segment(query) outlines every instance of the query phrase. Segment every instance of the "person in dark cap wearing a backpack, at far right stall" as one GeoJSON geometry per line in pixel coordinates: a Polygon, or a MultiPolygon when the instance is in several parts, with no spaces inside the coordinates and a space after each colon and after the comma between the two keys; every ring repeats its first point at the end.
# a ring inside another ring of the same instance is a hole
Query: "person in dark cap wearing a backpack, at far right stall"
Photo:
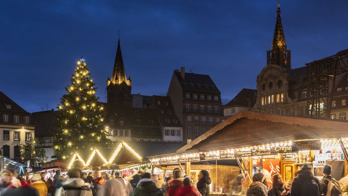
{"type": "Polygon", "coordinates": [[[340,183],[336,181],[336,179],[332,178],[332,167],[330,165],[324,165],[323,174],[325,175],[322,180],[319,181],[319,192],[323,196],[328,195],[328,185],[329,183],[333,183],[331,190],[329,190],[330,195],[340,195],[342,196],[342,190],[340,187],[340,183]]]}

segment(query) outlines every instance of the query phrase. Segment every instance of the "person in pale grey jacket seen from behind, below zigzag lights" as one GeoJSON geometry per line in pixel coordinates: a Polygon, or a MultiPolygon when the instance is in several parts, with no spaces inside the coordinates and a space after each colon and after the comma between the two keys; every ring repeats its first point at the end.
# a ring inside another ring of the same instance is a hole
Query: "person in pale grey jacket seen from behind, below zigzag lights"
{"type": "Polygon", "coordinates": [[[56,196],[92,196],[91,189],[80,176],[80,170],[70,169],[68,177],[69,179],[57,190],[56,196]]]}

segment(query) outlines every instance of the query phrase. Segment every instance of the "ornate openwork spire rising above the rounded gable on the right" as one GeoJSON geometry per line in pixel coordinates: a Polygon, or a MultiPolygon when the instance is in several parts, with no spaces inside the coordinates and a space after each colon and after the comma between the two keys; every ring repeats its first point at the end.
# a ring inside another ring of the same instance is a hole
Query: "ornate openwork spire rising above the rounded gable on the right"
{"type": "Polygon", "coordinates": [[[290,55],[291,51],[286,50],[285,35],[280,17],[280,2],[278,0],[277,19],[273,33],[272,46],[271,50],[267,50],[267,65],[273,64],[284,68],[291,68],[290,55]]]}

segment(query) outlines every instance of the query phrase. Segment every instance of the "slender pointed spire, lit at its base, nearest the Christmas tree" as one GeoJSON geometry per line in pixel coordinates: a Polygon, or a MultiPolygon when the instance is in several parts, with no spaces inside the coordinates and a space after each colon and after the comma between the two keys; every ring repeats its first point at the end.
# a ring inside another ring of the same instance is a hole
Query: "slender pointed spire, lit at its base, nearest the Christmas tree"
{"type": "Polygon", "coordinates": [[[114,63],[112,78],[111,78],[113,83],[116,82],[116,78],[119,80],[120,83],[127,80],[126,72],[124,70],[124,64],[123,64],[123,58],[122,58],[119,39],[118,39],[115,63],[114,63]]]}

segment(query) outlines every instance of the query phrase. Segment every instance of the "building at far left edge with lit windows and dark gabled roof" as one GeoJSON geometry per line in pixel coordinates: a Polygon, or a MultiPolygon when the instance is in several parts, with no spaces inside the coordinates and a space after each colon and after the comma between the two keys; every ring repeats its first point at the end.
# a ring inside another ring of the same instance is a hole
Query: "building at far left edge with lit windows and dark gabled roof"
{"type": "Polygon", "coordinates": [[[20,159],[20,144],[32,143],[35,126],[31,114],[0,92],[0,146],[4,157],[20,159]]]}

